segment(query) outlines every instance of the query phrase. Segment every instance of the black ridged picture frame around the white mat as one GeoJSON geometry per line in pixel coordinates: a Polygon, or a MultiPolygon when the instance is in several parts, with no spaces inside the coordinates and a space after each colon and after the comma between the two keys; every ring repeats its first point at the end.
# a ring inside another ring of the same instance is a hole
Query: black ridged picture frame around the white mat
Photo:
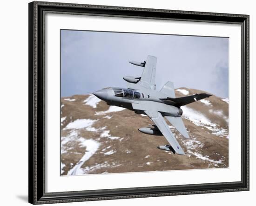
{"type": "Polygon", "coordinates": [[[249,15],[34,1],[29,3],[29,202],[110,200],[249,190],[249,15]],[[181,186],[45,192],[45,13],[239,24],[242,31],[241,181],[181,186]]]}

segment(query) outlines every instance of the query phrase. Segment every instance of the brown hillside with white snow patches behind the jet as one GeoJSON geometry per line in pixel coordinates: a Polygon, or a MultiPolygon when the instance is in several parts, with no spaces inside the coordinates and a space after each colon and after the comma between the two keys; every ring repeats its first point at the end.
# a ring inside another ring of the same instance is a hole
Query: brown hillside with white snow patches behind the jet
{"type": "MultiPolygon", "coordinates": [[[[176,97],[207,93],[179,88],[176,97]]],[[[163,136],[138,131],[144,115],[108,106],[93,95],[61,98],[61,175],[229,167],[229,104],[211,96],[182,107],[185,139],[170,124],[186,155],[160,150],[163,136]]]]}

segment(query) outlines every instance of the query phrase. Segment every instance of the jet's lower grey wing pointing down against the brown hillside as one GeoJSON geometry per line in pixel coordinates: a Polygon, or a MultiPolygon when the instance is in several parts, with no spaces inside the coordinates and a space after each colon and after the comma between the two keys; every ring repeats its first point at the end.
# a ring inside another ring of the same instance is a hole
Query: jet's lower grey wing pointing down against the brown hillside
{"type": "Polygon", "coordinates": [[[166,138],[172,148],[175,150],[175,153],[178,155],[185,155],[182,147],[179,145],[179,142],[176,140],[175,136],[169,129],[168,124],[165,122],[163,116],[158,111],[145,110],[144,111],[149,118],[155,123],[157,128],[162,132],[162,135],[166,138]]]}

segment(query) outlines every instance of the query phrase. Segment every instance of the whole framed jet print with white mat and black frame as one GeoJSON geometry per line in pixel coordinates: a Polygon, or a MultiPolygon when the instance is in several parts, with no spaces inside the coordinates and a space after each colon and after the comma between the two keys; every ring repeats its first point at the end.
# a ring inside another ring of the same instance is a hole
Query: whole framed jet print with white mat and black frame
{"type": "Polygon", "coordinates": [[[29,3],[30,203],[245,190],[249,15],[29,3]]]}

